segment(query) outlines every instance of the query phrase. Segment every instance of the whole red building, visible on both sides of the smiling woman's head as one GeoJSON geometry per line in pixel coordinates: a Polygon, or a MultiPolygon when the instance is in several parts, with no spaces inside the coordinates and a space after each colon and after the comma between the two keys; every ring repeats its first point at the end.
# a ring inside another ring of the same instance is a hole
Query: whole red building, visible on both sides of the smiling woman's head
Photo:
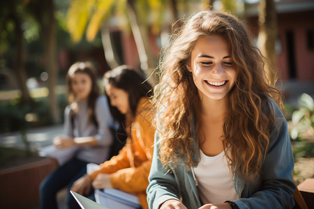
{"type": "MultiPolygon", "coordinates": [[[[284,82],[314,81],[314,0],[274,0],[276,2],[278,40],[276,42],[277,67],[284,82]]],[[[257,37],[257,3],[251,3],[246,10],[246,22],[257,37]]],[[[140,61],[133,36],[112,30],[118,45],[122,63],[139,68],[140,61]]],[[[149,38],[151,52],[158,57],[158,39],[149,38]]]]}

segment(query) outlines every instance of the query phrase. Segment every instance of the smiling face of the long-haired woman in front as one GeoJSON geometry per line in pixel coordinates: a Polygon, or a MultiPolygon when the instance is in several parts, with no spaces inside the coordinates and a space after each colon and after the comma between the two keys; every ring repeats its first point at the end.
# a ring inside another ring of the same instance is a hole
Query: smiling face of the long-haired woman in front
{"type": "Polygon", "coordinates": [[[237,78],[229,47],[222,36],[210,35],[197,40],[186,67],[193,74],[201,98],[225,98],[237,78]]]}

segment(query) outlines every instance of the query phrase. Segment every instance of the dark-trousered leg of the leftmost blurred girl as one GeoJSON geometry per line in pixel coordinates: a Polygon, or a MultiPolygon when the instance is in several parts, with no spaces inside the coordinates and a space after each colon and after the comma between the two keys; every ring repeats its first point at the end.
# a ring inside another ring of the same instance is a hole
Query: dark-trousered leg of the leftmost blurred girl
{"type": "Polygon", "coordinates": [[[57,192],[66,187],[73,176],[82,169],[80,161],[75,158],[57,168],[40,183],[40,208],[58,208],[57,192]]]}

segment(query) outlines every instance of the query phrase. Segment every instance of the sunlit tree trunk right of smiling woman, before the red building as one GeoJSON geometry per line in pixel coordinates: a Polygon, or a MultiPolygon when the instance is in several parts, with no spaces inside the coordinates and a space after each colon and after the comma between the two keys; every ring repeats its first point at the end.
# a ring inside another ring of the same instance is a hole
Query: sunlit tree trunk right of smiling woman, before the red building
{"type": "Polygon", "coordinates": [[[265,65],[266,78],[271,86],[276,84],[276,51],[277,38],[276,6],[274,0],[260,0],[259,17],[260,32],[257,45],[262,54],[268,59],[265,65]]]}

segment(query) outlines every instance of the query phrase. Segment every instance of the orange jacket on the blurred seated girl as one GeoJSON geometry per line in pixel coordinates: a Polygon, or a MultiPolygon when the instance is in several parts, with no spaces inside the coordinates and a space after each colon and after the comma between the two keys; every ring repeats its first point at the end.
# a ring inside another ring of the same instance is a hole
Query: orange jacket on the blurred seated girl
{"type": "Polygon", "coordinates": [[[130,137],[117,156],[112,157],[100,169],[91,173],[95,179],[98,173],[111,173],[112,187],[137,195],[142,208],[148,208],[146,188],[153,156],[155,128],[151,125],[154,112],[147,98],[140,99],[135,120],[130,127],[130,137]]]}

